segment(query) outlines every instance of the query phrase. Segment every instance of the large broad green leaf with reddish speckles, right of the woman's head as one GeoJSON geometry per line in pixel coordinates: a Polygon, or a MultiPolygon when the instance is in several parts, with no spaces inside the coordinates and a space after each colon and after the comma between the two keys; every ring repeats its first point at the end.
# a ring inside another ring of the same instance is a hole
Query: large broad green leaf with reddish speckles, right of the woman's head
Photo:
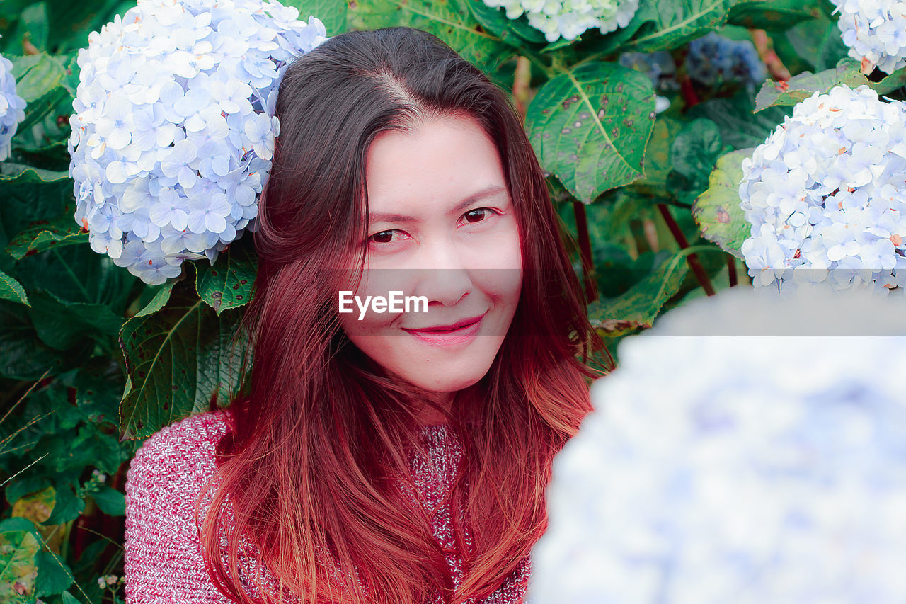
{"type": "Polygon", "coordinates": [[[583,63],[541,87],[528,106],[525,130],[545,170],[589,203],[643,176],[654,98],[642,73],[583,63]]]}

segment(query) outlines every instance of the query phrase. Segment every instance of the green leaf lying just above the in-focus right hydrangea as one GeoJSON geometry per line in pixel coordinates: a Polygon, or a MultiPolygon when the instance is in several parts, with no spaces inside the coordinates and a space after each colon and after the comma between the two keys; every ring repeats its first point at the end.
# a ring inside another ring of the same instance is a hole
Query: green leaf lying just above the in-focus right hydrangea
{"type": "Polygon", "coordinates": [[[906,68],[891,73],[880,82],[872,82],[860,71],[860,63],[851,58],[841,59],[833,69],[819,73],[800,73],[786,83],[767,81],[756,96],[755,111],[759,112],[774,105],[795,105],[815,92],[827,93],[841,84],[858,88],[866,84],[878,94],[891,93],[906,85],[906,68]]]}

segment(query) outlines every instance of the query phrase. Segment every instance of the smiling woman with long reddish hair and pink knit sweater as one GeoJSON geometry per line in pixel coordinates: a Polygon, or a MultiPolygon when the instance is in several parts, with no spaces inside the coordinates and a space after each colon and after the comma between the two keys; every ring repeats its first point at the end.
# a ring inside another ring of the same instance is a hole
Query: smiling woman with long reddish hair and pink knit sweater
{"type": "Polygon", "coordinates": [[[392,27],[297,59],[276,114],[251,390],[133,460],[127,601],[523,601],[602,343],[516,112],[392,27]],[[393,291],[423,306],[362,304],[393,291]]]}

